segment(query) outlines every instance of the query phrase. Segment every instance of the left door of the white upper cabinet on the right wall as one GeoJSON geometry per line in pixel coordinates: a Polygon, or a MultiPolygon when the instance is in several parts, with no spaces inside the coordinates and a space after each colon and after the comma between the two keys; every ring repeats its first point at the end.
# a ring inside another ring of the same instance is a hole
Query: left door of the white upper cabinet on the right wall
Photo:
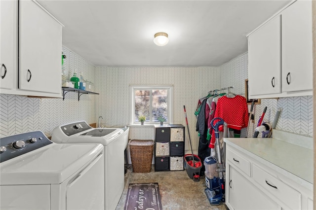
{"type": "Polygon", "coordinates": [[[281,18],[248,36],[249,95],[281,93],[281,18]]]}

